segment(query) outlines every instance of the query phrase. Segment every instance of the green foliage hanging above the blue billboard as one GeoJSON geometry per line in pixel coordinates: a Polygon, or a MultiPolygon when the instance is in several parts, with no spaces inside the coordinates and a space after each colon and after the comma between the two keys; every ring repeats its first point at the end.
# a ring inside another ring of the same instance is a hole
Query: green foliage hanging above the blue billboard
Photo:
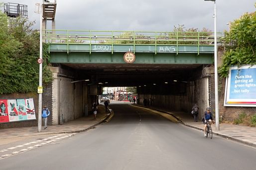
{"type": "Polygon", "coordinates": [[[224,42],[226,52],[219,73],[227,77],[230,66],[256,64],[256,12],[245,13],[230,25],[224,42]]]}

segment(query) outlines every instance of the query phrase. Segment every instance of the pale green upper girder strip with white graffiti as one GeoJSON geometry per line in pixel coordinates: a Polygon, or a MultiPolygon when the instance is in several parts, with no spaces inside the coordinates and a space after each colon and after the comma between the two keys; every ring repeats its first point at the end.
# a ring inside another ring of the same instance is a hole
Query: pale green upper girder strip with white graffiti
{"type": "Polygon", "coordinates": [[[49,52],[128,52],[133,53],[211,53],[214,46],[209,45],[150,45],[150,44],[49,44],[49,52]]]}

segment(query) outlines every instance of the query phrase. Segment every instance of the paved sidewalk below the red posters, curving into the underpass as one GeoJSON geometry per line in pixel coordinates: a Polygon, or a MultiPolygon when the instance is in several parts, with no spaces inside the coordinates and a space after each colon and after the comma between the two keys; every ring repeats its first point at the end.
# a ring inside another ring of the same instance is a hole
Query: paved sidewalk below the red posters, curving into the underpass
{"type": "Polygon", "coordinates": [[[94,115],[89,115],[64,123],[63,125],[48,126],[47,129],[44,129],[42,126],[41,132],[37,132],[37,126],[0,129],[0,140],[57,133],[83,132],[102,122],[108,121],[114,115],[113,112],[112,114],[105,113],[105,107],[103,105],[99,105],[98,110],[96,119],[94,119],[94,115]]]}

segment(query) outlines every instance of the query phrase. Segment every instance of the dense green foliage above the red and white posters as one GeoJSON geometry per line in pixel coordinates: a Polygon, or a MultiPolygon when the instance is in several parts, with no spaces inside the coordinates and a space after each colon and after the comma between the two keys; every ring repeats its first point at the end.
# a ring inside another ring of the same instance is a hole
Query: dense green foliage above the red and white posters
{"type": "MultiPolygon", "coordinates": [[[[0,94],[33,92],[39,80],[39,33],[31,29],[33,22],[25,17],[9,19],[0,12],[0,94]]],[[[46,53],[45,60],[49,59],[46,53]]],[[[44,83],[51,73],[44,64],[44,83]]]]}

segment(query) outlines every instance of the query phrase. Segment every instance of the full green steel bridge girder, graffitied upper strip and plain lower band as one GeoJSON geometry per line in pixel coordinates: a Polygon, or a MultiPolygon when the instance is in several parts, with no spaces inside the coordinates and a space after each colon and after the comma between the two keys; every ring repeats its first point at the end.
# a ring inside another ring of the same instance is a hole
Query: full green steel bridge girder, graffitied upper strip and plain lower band
{"type": "Polygon", "coordinates": [[[197,45],[99,45],[49,44],[51,63],[126,64],[127,51],[136,55],[134,64],[212,64],[213,46],[197,45]]]}

